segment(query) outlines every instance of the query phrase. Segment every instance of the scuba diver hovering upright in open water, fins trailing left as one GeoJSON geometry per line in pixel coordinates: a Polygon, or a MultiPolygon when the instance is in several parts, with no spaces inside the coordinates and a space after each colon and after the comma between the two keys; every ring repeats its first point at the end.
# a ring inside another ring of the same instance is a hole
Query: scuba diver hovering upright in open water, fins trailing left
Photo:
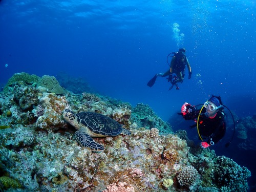
{"type": "Polygon", "coordinates": [[[150,81],[148,81],[147,86],[152,87],[157,77],[166,77],[168,75],[167,80],[173,85],[172,87],[169,88],[169,90],[172,89],[174,86],[176,86],[176,89],[179,90],[177,82],[181,82],[181,83],[183,82],[186,66],[188,69],[188,79],[190,79],[192,75],[191,67],[185,52],[186,52],[185,48],[180,48],[178,52],[170,53],[167,56],[167,63],[170,67],[169,70],[166,71],[165,73],[156,74],[150,81]],[[170,64],[168,61],[169,57],[172,57],[170,64]],[[173,73],[175,73],[176,75],[173,76],[173,73]]]}

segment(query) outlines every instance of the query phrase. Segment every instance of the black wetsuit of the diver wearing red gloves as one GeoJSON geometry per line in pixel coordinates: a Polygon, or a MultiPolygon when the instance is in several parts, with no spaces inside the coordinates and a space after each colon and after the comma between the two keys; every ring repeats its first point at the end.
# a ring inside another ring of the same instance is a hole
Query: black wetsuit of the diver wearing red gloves
{"type": "MultiPolygon", "coordinates": [[[[187,113],[186,115],[182,115],[185,120],[195,119],[197,122],[198,115],[201,109],[193,109],[192,113],[187,113]]],[[[206,109],[203,108],[201,114],[204,114],[206,109]]],[[[205,116],[200,116],[199,118],[199,133],[202,139],[206,140],[208,144],[210,141],[214,143],[218,143],[226,133],[226,122],[225,122],[225,114],[222,111],[218,111],[214,118],[209,118],[205,116]]]]}

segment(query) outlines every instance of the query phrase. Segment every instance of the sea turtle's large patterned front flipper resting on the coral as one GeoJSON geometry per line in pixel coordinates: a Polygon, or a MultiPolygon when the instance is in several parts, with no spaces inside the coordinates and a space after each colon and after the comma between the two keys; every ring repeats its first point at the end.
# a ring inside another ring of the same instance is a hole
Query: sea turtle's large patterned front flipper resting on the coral
{"type": "Polygon", "coordinates": [[[76,137],[76,140],[79,142],[79,144],[82,147],[88,147],[88,148],[90,148],[90,150],[95,151],[95,152],[103,151],[105,149],[103,145],[96,143],[91,138],[91,136],[86,132],[78,130],[75,132],[75,137],[76,137]]]}

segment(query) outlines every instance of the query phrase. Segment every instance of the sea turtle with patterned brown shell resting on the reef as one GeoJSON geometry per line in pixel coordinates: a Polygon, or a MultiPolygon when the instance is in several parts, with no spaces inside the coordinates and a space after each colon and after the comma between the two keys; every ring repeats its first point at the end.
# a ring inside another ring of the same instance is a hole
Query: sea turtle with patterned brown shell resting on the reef
{"type": "Polygon", "coordinates": [[[123,129],[117,121],[99,113],[80,112],[74,114],[71,110],[64,110],[62,116],[78,130],[75,132],[75,137],[80,145],[88,147],[92,151],[104,150],[104,146],[96,143],[92,137],[131,135],[131,132],[123,129]]]}

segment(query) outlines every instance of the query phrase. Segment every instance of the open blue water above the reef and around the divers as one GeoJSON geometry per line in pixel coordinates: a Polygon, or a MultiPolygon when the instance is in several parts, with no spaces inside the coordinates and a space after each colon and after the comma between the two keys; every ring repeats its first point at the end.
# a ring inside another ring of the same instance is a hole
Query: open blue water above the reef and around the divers
{"type": "Polygon", "coordinates": [[[17,72],[67,72],[101,94],[150,104],[163,120],[185,101],[203,103],[211,94],[239,117],[251,116],[255,10],[255,1],[2,0],[0,85],[17,72]],[[186,71],[180,90],[168,91],[161,77],[147,87],[179,47],[186,48],[193,77],[186,71]]]}

